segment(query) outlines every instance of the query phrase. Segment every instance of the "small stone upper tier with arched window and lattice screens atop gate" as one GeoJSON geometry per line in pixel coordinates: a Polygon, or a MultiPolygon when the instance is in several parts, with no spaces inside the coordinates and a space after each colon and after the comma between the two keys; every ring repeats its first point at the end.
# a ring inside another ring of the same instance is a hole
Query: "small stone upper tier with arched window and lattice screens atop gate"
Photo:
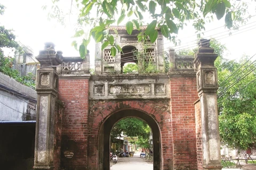
{"type": "MultiPolygon", "coordinates": [[[[145,30],[146,27],[142,27],[143,29],[145,30]]],[[[125,63],[135,63],[138,66],[140,63],[151,63],[159,72],[162,72],[164,70],[164,47],[161,31],[158,30],[158,36],[154,43],[150,43],[149,40],[144,43],[139,42],[137,37],[140,32],[141,30],[133,30],[129,35],[125,26],[111,27],[109,35],[114,37],[115,44],[122,48],[122,52],[111,56],[111,46],[101,50],[102,43],[97,43],[95,46],[95,73],[123,73],[125,63]],[[140,61],[142,56],[143,60],[140,61]]],[[[139,73],[141,73],[140,70],[139,73]]]]}

